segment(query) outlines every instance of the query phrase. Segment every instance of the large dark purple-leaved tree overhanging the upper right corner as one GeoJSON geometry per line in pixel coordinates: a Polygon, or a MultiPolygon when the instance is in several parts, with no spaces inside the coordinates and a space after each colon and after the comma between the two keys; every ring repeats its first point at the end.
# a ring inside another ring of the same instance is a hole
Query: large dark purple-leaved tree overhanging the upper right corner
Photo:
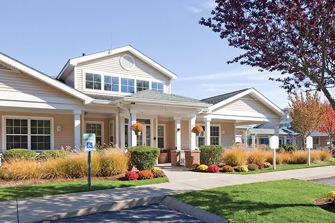
{"type": "MultiPolygon", "coordinates": [[[[216,0],[213,17],[199,23],[212,28],[229,46],[245,53],[240,62],[260,70],[280,71],[282,88],[316,89],[333,109],[335,87],[335,1],[216,0]]],[[[272,80],[274,80],[272,78],[272,80]]]]}

